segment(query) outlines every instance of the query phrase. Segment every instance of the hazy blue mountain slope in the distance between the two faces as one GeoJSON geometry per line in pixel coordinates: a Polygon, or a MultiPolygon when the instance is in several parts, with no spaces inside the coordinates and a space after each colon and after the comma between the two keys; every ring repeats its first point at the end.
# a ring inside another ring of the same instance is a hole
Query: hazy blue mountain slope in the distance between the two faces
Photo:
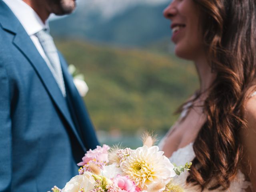
{"type": "Polygon", "coordinates": [[[50,22],[51,33],[58,38],[86,39],[119,46],[144,46],[170,36],[170,21],[160,5],[139,4],[106,20],[98,12],[79,9],[71,16],[50,22]]]}

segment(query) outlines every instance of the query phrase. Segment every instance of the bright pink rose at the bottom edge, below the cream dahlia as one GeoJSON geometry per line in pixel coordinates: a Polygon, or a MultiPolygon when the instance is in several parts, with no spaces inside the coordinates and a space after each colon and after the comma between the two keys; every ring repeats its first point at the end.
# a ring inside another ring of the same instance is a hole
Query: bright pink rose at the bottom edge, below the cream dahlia
{"type": "Polygon", "coordinates": [[[136,185],[131,181],[128,176],[117,175],[114,180],[114,184],[121,188],[120,192],[139,192],[136,185]]]}

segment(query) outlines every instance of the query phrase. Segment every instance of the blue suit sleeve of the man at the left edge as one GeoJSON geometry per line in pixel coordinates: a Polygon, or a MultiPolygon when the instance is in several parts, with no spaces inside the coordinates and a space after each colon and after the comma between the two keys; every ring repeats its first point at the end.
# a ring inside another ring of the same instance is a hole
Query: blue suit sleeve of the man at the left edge
{"type": "Polygon", "coordinates": [[[0,63],[0,192],[10,192],[12,180],[12,123],[8,75],[0,63]]]}

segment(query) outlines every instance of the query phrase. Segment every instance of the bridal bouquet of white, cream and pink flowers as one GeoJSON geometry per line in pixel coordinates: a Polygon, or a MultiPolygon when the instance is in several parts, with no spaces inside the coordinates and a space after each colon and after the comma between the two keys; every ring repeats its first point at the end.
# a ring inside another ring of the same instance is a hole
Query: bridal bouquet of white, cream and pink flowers
{"type": "Polygon", "coordinates": [[[185,192],[172,178],[191,163],[174,166],[153,146],[154,139],[147,135],[143,146],[135,150],[108,145],[97,146],[82,158],[78,175],[60,190],[54,186],[52,192],[185,192]]]}

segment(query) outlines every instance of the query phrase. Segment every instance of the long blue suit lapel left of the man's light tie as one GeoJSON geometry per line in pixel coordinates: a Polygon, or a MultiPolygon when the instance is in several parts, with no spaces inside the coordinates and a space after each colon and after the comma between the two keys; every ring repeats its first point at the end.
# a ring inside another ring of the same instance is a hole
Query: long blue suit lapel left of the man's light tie
{"type": "Polygon", "coordinates": [[[68,122],[70,128],[74,132],[74,135],[78,139],[78,142],[81,144],[82,148],[86,150],[84,144],[72,122],[72,118],[70,116],[70,112],[68,110],[68,106],[66,104],[66,100],[63,97],[60,88],[56,80],[54,79],[52,72],[48,68],[42,56],[39,54],[38,50],[34,46],[34,43],[18,21],[18,19],[14,16],[11,10],[0,1],[0,23],[3,28],[9,32],[14,33],[13,44],[24,54],[27,60],[30,62],[39,78],[42,81],[45,89],[47,90],[50,98],[56,104],[56,107],[60,111],[60,113],[64,116],[66,121],[68,122]]]}

